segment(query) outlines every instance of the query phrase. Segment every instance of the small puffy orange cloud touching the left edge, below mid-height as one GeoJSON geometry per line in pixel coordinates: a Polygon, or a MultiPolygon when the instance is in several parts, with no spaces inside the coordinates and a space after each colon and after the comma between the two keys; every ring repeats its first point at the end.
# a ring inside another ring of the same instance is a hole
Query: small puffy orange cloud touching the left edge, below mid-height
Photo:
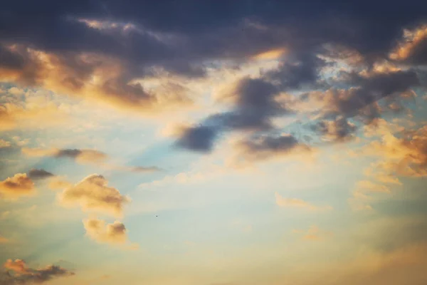
{"type": "Polygon", "coordinates": [[[2,197],[16,199],[21,196],[33,195],[34,182],[25,173],[17,173],[0,182],[0,194],[2,197]]]}

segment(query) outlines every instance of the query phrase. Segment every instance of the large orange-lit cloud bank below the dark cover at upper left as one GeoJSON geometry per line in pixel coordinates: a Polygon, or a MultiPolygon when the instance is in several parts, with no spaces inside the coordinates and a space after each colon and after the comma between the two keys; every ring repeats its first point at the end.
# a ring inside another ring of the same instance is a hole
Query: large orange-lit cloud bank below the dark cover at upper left
{"type": "Polygon", "coordinates": [[[0,77],[4,81],[39,86],[138,113],[170,110],[191,103],[183,86],[163,93],[164,86],[146,88],[136,83],[138,78],[131,78],[125,64],[116,58],[94,53],[59,55],[17,44],[4,48],[25,63],[19,68],[1,66],[0,77]]]}

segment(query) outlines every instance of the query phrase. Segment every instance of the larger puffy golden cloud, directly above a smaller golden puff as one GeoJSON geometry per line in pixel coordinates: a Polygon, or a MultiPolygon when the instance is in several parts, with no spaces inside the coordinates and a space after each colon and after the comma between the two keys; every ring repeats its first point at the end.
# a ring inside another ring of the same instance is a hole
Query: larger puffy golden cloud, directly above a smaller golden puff
{"type": "Polygon", "coordinates": [[[68,207],[80,206],[85,212],[121,217],[123,207],[130,199],[107,185],[108,182],[102,175],[89,175],[77,184],[65,188],[59,195],[60,203],[68,207]]]}

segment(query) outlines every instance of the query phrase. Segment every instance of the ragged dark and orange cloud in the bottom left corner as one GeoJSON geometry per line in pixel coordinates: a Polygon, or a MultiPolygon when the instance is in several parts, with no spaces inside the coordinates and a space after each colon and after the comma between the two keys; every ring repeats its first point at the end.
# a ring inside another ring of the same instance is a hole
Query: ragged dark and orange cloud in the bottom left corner
{"type": "Polygon", "coordinates": [[[73,276],[72,271],[63,269],[60,266],[50,265],[46,266],[43,269],[31,269],[28,268],[26,262],[21,259],[8,259],[4,264],[4,268],[7,270],[14,271],[14,275],[9,274],[9,271],[6,274],[3,274],[0,284],[43,284],[45,282],[51,281],[57,277],[66,277],[73,276]]]}

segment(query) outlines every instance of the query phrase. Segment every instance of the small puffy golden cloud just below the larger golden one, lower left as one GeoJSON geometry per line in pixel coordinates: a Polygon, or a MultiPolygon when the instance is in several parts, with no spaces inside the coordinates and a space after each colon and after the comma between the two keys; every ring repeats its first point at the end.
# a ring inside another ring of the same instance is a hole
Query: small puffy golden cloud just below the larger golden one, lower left
{"type": "Polygon", "coordinates": [[[115,221],[112,224],[106,224],[101,219],[84,219],[83,224],[88,237],[96,242],[107,244],[125,244],[127,242],[126,228],[121,222],[115,221]]]}

